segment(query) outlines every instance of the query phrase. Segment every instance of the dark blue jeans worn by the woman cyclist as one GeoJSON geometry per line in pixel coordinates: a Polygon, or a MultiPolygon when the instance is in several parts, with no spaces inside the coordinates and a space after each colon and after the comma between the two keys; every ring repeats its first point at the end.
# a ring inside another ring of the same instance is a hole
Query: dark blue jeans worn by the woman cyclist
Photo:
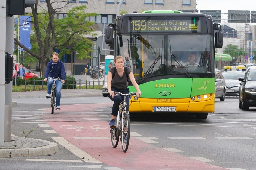
{"type": "MultiPolygon", "coordinates": [[[[123,94],[128,94],[129,93],[129,89],[116,89],[114,87],[111,87],[111,90],[114,91],[114,92],[120,92],[120,93],[123,93],[123,94]]],[[[113,107],[112,107],[112,115],[113,116],[117,116],[118,114],[118,110],[119,110],[119,105],[120,103],[123,101],[123,95],[116,95],[113,97],[110,97],[109,93],[108,93],[108,98],[110,98],[110,100],[114,101],[114,104],[113,104],[113,107]]],[[[129,99],[130,99],[130,96],[126,96],[126,111],[129,110],[129,99]]]]}

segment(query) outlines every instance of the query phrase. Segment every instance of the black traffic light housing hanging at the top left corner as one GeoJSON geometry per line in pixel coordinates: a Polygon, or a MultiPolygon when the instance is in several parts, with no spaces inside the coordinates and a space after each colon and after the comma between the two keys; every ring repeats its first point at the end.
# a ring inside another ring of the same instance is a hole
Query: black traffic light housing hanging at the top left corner
{"type": "Polygon", "coordinates": [[[35,0],[6,0],[6,16],[24,15],[25,8],[35,4],[35,0]]]}

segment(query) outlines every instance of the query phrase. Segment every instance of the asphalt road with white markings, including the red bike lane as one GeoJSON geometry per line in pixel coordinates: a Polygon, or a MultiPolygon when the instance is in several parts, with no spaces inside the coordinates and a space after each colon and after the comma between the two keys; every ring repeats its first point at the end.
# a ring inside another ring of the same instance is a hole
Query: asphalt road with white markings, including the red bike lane
{"type": "Polygon", "coordinates": [[[53,115],[46,101],[17,101],[12,109],[12,133],[23,136],[22,129],[34,129],[30,138],[51,142],[58,139],[60,152],[47,157],[2,158],[1,169],[255,170],[256,167],[256,108],[242,111],[238,98],[215,99],[215,113],[209,114],[206,120],[188,114],[131,114],[133,133],[127,153],[122,152],[121,145],[112,148],[110,139],[103,138],[110,136],[108,129],[91,128],[108,126],[111,106],[108,98],[62,98],[61,110],[53,115]],[[41,128],[39,124],[50,127],[41,128]],[[63,125],[74,128],[66,129],[63,125]],[[47,130],[56,133],[46,133],[47,130]],[[92,136],[102,139],[91,139],[92,136]],[[99,162],[86,162],[87,157],[81,159],[63,139],[99,162]],[[113,154],[117,160],[109,157],[113,154]]]}

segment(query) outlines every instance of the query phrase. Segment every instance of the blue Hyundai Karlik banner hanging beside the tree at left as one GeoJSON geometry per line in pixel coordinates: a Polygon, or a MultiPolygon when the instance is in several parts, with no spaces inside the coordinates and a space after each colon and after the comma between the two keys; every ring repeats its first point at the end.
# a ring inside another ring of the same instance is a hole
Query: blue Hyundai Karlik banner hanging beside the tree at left
{"type": "MultiPolygon", "coordinates": [[[[31,50],[30,44],[31,16],[20,16],[20,43],[31,50]]],[[[24,51],[20,48],[20,51],[24,51]]]]}

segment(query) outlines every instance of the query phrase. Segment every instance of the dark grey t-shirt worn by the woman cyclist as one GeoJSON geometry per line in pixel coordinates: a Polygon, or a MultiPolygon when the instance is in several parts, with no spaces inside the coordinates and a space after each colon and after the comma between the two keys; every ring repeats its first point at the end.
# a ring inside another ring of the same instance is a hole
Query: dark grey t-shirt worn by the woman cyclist
{"type": "MultiPolygon", "coordinates": [[[[130,67],[126,67],[126,68],[127,68],[127,74],[129,75],[130,72],[132,72],[132,70],[130,67]]],[[[111,72],[113,75],[114,67],[111,67],[108,71],[111,72]]],[[[112,81],[111,81],[111,87],[115,87],[117,89],[126,89],[128,87],[125,71],[123,72],[123,76],[119,76],[116,70],[115,76],[112,78],[112,81]]]]}

